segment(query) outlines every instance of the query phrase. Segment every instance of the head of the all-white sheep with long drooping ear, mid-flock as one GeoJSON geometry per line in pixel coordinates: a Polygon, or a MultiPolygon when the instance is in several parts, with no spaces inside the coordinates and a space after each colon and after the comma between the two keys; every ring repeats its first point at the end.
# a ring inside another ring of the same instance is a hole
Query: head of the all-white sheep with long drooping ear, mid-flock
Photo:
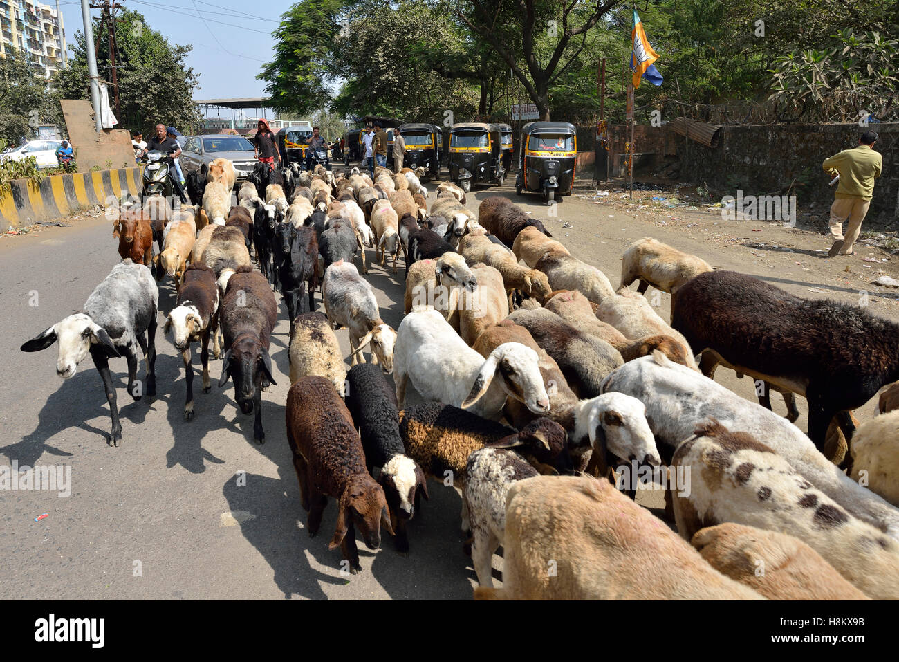
{"type": "Polygon", "coordinates": [[[521,343],[503,343],[490,353],[462,403],[463,409],[475,404],[487,392],[497,372],[503,390],[510,398],[524,403],[535,414],[549,411],[549,396],[540,374],[538,353],[521,343]]]}

